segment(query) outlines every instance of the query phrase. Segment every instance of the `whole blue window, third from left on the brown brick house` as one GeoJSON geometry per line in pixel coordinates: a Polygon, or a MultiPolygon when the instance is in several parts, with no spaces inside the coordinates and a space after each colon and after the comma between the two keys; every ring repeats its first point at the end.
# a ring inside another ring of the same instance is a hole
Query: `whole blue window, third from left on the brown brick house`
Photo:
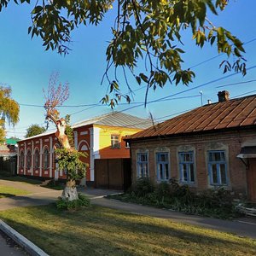
{"type": "Polygon", "coordinates": [[[183,183],[195,183],[194,153],[179,152],[180,180],[183,183]]]}

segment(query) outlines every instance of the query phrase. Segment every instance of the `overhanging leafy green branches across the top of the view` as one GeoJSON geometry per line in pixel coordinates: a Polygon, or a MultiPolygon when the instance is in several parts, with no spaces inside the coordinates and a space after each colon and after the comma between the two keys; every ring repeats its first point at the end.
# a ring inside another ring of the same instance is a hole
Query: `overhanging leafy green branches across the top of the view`
{"type": "MultiPolygon", "coordinates": [[[[1,0],[0,11],[10,1],[1,0]]],[[[14,2],[30,3],[30,0],[14,2]]],[[[113,107],[122,97],[131,100],[129,94],[119,91],[116,76],[119,68],[130,90],[127,71],[138,84],[147,85],[145,102],[150,88],[155,90],[167,82],[185,85],[192,82],[195,73],[183,67],[184,32],[191,34],[195,45],[202,48],[211,44],[218,53],[224,53],[221,62],[224,73],[234,69],[245,74],[241,41],[223,26],[213,24],[207,15],[218,15],[228,4],[232,3],[229,0],[38,0],[32,7],[32,26],[28,32],[32,38],[42,38],[46,50],[65,55],[76,27],[96,26],[114,9],[116,19],[111,26],[112,39],[106,50],[107,67],[102,79],[109,88],[102,102],[113,107]],[[139,61],[145,62],[143,72],[137,71],[139,61]]]]}

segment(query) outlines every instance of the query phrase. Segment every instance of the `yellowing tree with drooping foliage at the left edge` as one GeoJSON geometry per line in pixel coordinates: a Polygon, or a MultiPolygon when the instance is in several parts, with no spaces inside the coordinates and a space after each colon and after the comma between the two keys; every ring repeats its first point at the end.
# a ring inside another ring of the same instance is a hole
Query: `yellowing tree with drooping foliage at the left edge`
{"type": "Polygon", "coordinates": [[[0,143],[5,141],[5,123],[15,125],[19,121],[20,106],[11,97],[11,88],[0,85],[0,143]]]}

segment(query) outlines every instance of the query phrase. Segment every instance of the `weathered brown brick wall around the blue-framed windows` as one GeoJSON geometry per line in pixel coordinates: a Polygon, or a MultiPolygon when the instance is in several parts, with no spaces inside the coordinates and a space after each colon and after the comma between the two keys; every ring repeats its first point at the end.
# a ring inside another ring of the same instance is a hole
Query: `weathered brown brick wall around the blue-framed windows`
{"type": "Polygon", "coordinates": [[[236,155],[240,153],[243,143],[253,140],[256,142],[255,129],[131,141],[132,183],[137,179],[137,153],[148,152],[149,177],[156,182],[156,152],[164,151],[169,153],[171,177],[179,181],[178,152],[193,151],[195,156],[195,184],[191,184],[191,186],[199,191],[210,189],[212,186],[209,182],[207,151],[225,150],[229,180],[227,187],[237,194],[246,195],[247,170],[236,155]]]}

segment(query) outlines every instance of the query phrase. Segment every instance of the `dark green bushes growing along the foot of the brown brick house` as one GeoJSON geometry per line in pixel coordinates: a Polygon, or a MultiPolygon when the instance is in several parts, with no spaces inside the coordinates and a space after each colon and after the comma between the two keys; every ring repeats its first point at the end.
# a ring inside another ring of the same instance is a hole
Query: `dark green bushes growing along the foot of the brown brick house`
{"type": "Polygon", "coordinates": [[[195,194],[188,185],[179,185],[174,179],[170,180],[170,183],[154,185],[149,178],[140,178],[131,192],[116,195],[113,198],[217,218],[230,218],[237,215],[229,190],[209,189],[195,194]]]}

